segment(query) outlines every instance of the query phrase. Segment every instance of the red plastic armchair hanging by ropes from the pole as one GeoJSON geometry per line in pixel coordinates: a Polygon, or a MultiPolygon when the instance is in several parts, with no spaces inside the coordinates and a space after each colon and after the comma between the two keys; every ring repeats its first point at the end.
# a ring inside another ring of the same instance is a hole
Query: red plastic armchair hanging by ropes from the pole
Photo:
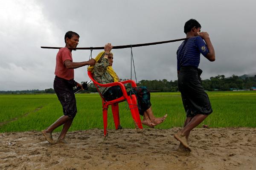
{"type": "Polygon", "coordinates": [[[112,109],[112,113],[113,113],[113,119],[115,122],[115,127],[116,130],[122,128],[120,126],[120,119],[119,119],[119,107],[118,107],[118,103],[119,102],[123,102],[123,101],[127,101],[129,108],[131,110],[131,115],[132,118],[134,119],[134,123],[135,123],[135,127],[137,129],[137,131],[139,131],[138,129],[143,129],[141,121],[140,121],[140,114],[139,114],[139,110],[138,110],[138,106],[137,106],[137,99],[136,96],[134,94],[132,94],[131,96],[128,96],[127,92],[125,91],[125,86],[124,84],[126,83],[131,83],[132,87],[137,87],[136,83],[133,80],[126,80],[123,82],[113,82],[113,83],[109,83],[109,84],[100,84],[98,82],[96,82],[93,78],[93,73],[91,71],[88,71],[88,76],[90,77],[90,79],[93,81],[97,91],[99,92],[99,86],[102,87],[111,87],[111,86],[115,86],[115,85],[119,85],[123,96],[119,97],[118,99],[114,99],[111,101],[106,101],[104,99],[104,97],[102,96],[102,94],[99,92],[99,95],[102,98],[102,111],[103,111],[103,125],[104,125],[104,136],[107,135],[107,126],[108,126],[108,106],[111,105],[111,109],[112,109]]]}

